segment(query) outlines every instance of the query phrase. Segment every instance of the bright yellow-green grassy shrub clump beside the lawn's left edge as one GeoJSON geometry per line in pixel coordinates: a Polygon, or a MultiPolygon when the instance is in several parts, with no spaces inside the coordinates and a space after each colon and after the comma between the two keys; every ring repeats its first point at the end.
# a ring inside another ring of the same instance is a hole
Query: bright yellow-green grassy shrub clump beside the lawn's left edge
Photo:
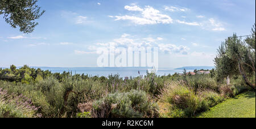
{"type": "Polygon", "coordinates": [[[222,101],[215,92],[197,92],[185,82],[172,81],[162,90],[160,101],[170,104],[170,117],[193,117],[222,101]]]}

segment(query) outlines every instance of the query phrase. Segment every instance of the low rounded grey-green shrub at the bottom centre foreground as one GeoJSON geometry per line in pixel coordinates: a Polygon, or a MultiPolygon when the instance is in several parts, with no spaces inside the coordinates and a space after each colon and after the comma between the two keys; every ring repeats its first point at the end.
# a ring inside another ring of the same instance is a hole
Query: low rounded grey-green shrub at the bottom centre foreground
{"type": "Polygon", "coordinates": [[[93,117],[139,118],[158,117],[158,105],[143,91],[113,93],[93,103],[93,117]]]}

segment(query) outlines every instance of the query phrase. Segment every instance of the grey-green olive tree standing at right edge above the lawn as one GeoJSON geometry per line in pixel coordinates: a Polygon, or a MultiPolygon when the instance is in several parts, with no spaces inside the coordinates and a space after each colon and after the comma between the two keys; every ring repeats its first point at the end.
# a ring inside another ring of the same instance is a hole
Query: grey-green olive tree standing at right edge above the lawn
{"type": "Polygon", "coordinates": [[[251,36],[246,37],[244,41],[234,34],[222,42],[214,63],[218,80],[241,75],[245,83],[255,90],[255,84],[249,80],[249,77],[255,74],[255,24],[251,36]]]}

